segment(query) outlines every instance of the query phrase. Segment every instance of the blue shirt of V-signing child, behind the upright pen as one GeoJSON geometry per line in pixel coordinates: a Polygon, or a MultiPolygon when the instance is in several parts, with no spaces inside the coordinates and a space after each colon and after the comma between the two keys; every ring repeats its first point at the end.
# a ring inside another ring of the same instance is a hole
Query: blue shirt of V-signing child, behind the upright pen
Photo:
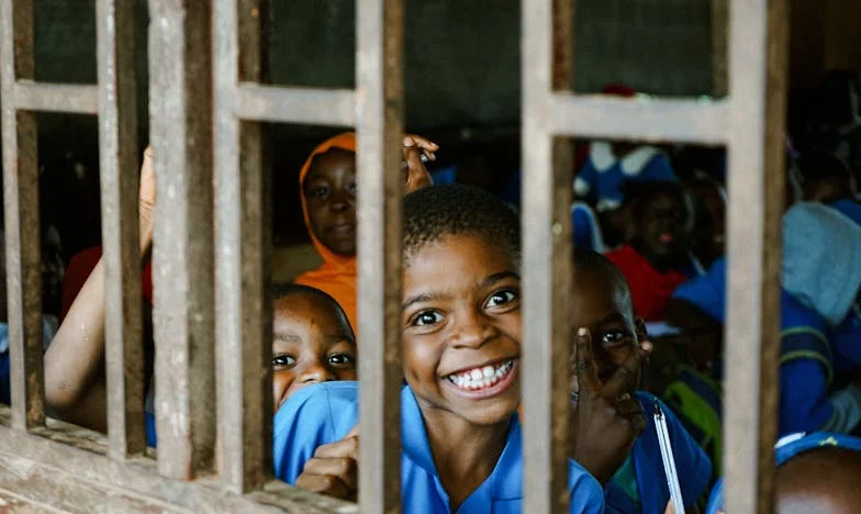
{"type": "MultiPolygon", "coordinates": [[[[629,458],[604,489],[606,512],[662,514],[670,501],[658,432],[655,425],[656,398],[637,391],[646,429],[634,443],[629,458]]],[[[675,470],[685,506],[693,506],[706,492],[712,479],[712,461],[684,429],[675,414],[658,400],[670,433],[675,470]]]]}

